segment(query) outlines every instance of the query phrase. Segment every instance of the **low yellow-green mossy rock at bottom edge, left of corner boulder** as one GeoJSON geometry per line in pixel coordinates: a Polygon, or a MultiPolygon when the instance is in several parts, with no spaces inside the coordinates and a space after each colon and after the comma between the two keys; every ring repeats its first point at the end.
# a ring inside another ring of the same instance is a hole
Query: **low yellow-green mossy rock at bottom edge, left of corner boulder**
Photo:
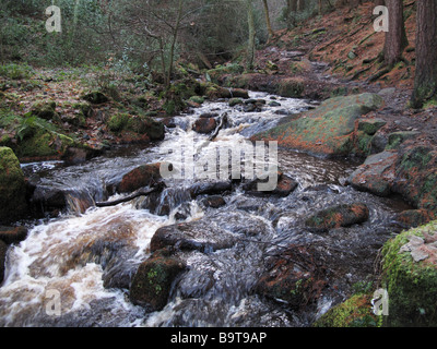
{"type": "Polygon", "coordinates": [[[354,294],[331,308],[312,327],[379,327],[380,316],[371,311],[370,294],[354,294]]]}

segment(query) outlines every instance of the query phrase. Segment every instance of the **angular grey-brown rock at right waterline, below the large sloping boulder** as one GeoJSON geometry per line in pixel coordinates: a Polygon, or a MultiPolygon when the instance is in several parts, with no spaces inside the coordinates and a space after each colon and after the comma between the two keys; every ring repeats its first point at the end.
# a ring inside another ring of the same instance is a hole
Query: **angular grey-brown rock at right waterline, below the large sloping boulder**
{"type": "Polygon", "coordinates": [[[391,184],[395,178],[397,161],[395,152],[371,155],[350,176],[349,183],[357,190],[387,196],[391,192],[391,184]]]}

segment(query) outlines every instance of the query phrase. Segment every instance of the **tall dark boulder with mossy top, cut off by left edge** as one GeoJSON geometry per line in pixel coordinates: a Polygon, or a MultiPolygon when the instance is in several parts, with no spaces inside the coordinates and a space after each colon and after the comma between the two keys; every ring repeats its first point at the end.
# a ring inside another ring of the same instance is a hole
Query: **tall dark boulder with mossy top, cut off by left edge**
{"type": "Polygon", "coordinates": [[[27,203],[23,170],[8,147],[0,147],[0,222],[12,222],[25,216],[27,203]]]}

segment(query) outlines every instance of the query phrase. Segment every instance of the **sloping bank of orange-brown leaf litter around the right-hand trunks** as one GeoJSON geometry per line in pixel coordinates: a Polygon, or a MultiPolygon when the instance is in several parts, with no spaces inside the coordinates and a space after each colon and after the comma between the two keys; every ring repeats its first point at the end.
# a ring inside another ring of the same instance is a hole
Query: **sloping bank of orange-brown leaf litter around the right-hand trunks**
{"type": "Polygon", "coordinates": [[[405,5],[409,46],[403,60],[390,71],[378,60],[383,50],[385,33],[375,32],[373,10],[371,2],[355,9],[343,8],[292,31],[277,32],[271,43],[257,52],[258,67],[274,63],[275,74],[302,77],[316,89],[322,89],[326,82],[343,86],[344,91],[382,91],[385,107],[370,117],[388,122],[383,131],[418,131],[417,141],[437,145],[437,103],[429,103],[421,110],[409,106],[415,72],[413,2],[405,5]]]}

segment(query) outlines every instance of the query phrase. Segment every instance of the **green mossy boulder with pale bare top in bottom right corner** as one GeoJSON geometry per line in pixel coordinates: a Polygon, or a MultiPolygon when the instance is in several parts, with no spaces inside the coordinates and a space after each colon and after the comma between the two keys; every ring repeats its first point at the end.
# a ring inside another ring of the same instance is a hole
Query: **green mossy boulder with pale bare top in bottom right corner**
{"type": "Polygon", "coordinates": [[[382,249],[382,287],[389,294],[385,325],[437,326],[437,221],[413,228],[382,249]]]}

